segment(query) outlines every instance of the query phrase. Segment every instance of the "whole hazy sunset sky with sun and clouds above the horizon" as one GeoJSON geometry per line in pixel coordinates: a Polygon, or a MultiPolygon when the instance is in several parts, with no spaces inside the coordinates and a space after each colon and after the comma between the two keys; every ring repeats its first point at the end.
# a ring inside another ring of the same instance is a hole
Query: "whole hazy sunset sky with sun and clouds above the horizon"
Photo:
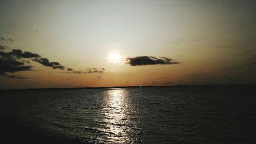
{"type": "Polygon", "coordinates": [[[255,1],[0,1],[0,89],[255,84],[255,1]]]}

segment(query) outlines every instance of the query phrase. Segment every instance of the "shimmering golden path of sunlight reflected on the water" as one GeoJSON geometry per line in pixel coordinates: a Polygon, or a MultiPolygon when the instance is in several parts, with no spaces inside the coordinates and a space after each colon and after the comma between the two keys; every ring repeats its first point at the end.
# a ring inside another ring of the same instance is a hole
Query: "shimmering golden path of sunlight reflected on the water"
{"type": "Polygon", "coordinates": [[[130,122],[130,98],[126,89],[111,89],[106,91],[102,107],[102,121],[106,124],[106,138],[111,142],[127,143],[133,142],[132,128],[130,122]]]}

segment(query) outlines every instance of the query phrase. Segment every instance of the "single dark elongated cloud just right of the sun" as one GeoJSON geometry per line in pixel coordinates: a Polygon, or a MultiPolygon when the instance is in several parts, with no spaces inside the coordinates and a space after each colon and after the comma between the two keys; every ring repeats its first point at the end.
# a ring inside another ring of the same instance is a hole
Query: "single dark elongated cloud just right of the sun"
{"type": "Polygon", "coordinates": [[[179,62],[173,61],[170,58],[166,57],[148,57],[148,56],[141,56],[141,57],[134,57],[134,58],[126,58],[126,64],[130,64],[132,66],[136,65],[155,65],[155,64],[176,64],[179,62]]]}

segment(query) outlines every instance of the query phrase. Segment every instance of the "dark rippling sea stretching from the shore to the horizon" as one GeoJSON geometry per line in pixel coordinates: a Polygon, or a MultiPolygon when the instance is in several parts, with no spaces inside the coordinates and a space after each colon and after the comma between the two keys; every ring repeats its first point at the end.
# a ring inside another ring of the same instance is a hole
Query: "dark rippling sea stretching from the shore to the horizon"
{"type": "Polygon", "coordinates": [[[86,142],[255,143],[255,88],[0,92],[0,114],[32,131],[86,142]]]}

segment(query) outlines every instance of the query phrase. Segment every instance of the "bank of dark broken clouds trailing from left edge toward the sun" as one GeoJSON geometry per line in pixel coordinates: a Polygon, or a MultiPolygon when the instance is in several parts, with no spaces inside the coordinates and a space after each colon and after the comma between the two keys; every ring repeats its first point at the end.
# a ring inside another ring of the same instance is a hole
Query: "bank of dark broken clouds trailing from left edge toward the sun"
{"type": "MultiPolygon", "coordinates": [[[[4,39],[3,37],[1,39],[4,39]]],[[[8,49],[8,46],[0,45],[0,50],[8,49]]],[[[48,58],[42,58],[39,54],[31,52],[23,52],[22,50],[15,49],[10,52],[0,51],[0,76],[6,78],[16,78],[16,79],[26,79],[25,77],[20,77],[19,75],[7,75],[6,73],[15,73],[17,71],[27,71],[32,70],[30,61],[35,61],[41,65],[52,67],[53,69],[67,70],[63,73],[71,74],[91,74],[91,73],[103,73],[105,68],[87,68],[87,70],[74,70],[73,68],[66,68],[59,62],[49,61],[48,58]]],[[[99,76],[100,77],[100,76],[99,76]]]]}

